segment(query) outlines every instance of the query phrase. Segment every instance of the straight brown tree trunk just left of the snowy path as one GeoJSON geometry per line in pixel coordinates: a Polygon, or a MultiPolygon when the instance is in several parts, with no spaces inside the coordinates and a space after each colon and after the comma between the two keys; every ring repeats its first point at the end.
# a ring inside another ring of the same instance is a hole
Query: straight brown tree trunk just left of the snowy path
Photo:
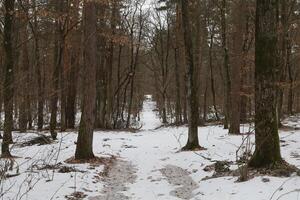
{"type": "Polygon", "coordinates": [[[96,108],[96,50],[97,29],[95,1],[84,1],[83,7],[83,52],[84,52],[84,91],[82,116],[80,121],[75,159],[94,158],[93,131],[96,108]]]}

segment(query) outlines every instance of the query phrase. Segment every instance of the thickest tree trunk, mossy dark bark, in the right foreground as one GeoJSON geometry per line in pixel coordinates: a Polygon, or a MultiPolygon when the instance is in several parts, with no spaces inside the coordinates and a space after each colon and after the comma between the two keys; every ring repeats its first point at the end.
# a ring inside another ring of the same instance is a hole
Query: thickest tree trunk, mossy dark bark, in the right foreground
{"type": "Polygon", "coordinates": [[[272,167],[282,162],[278,136],[277,0],[256,1],[255,41],[255,152],[253,167],[272,167]]]}

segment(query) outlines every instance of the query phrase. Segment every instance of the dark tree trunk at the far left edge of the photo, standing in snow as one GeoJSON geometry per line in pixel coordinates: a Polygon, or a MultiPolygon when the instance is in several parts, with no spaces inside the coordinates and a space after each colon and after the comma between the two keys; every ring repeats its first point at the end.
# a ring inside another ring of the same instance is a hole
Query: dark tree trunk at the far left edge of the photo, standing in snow
{"type": "Polygon", "coordinates": [[[3,49],[4,61],[4,133],[1,148],[2,157],[10,157],[9,144],[12,143],[13,129],[13,96],[14,96],[14,55],[13,55],[13,21],[15,12],[15,1],[4,1],[4,35],[3,49]]]}

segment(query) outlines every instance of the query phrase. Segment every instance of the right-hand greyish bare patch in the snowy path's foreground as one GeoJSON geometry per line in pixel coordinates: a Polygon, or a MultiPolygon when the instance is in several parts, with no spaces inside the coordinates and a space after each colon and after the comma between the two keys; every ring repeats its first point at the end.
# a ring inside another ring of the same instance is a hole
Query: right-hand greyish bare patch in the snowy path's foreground
{"type": "Polygon", "coordinates": [[[195,196],[193,191],[198,188],[198,184],[190,177],[189,172],[174,165],[167,165],[160,172],[170,184],[178,186],[170,192],[172,196],[180,199],[191,199],[195,196]]]}

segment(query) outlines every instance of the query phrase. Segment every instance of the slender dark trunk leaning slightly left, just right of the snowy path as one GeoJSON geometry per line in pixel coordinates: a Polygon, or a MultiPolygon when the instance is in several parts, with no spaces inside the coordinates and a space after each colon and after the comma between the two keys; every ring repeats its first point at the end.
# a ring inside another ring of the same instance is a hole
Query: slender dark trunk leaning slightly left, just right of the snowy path
{"type": "Polygon", "coordinates": [[[188,89],[188,141],[183,150],[199,149],[198,140],[198,99],[195,65],[193,55],[193,42],[191,35],[188,0],[181,0],[181,14],[185,44],[185,60],[187,64],[187,89],[188,89]]]}

